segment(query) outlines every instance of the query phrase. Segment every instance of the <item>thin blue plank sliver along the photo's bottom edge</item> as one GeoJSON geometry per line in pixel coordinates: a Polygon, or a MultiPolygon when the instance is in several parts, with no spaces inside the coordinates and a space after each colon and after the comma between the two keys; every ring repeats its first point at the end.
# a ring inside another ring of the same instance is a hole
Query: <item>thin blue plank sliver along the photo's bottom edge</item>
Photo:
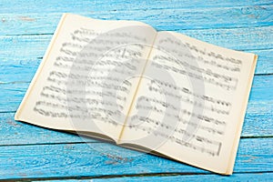
{"type": "MultiPolygon", "coordinates": [[[[71,177],[76,178],[76,177],[71,177]]],[[[173,182],[173,181],[272,181],[273,173],[260,172],[260,173],[242,173],[242,174],[233,174],[231,176],[220,176],[220,175],[177,175],[177,174],[158,174],[154,177],[141,175],[137,177],[107,177],[107,178],[92,178],[90,179],[66,179],[67,182],[103,182],[103,181],[164,181],[164,182],[173,182]]],[[[60,178],[61,179],[61,178],[60,178]]],[[[60,179],[56,180],[43,180],[44,182],[58,182],[60,179]]],[[[35,180],[34,180],[35,181],[35,180]]]]}

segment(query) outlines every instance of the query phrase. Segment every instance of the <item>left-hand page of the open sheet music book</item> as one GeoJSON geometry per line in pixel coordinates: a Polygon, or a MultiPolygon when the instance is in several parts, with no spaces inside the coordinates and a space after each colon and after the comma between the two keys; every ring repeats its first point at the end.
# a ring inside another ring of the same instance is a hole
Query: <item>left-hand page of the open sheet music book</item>
{"type": "Polygon", "coordinates": [[[15,119],[116,140],[155,35],[139,22],[63,15],[15,119]]]}

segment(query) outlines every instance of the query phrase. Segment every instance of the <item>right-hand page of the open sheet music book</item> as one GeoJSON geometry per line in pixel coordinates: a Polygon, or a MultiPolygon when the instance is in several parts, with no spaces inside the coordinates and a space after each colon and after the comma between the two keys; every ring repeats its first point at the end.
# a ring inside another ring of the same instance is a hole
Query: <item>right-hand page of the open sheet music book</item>
{"type": "Polygon", "coordinates": [[[232,174],[256,62],[254,54],[159,32],[122,142],[232,174]]]}

